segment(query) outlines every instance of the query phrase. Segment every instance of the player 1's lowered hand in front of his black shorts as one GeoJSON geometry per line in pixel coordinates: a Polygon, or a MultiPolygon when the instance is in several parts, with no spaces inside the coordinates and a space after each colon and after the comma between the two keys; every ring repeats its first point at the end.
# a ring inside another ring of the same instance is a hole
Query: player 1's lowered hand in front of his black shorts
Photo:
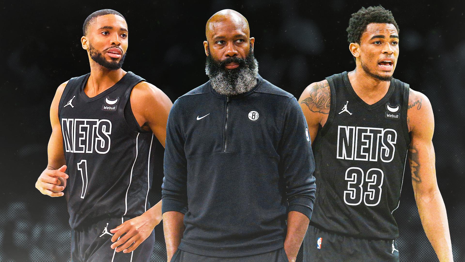
{"type": "Polygon", "coordinates": [[[147,213],[125,221],[116,228],[110,230],[113,233],[111,248],[116,248],[116,252],[133,252],[140,243],[152,234],[153,228],[160,222],[147,213]],[[123,235],[124,234],[124,235],[123,235]],[[118,239],[120,237],[120,239],[118,239]],[[116,241],[116,242],[115,242],[116,241]]]}

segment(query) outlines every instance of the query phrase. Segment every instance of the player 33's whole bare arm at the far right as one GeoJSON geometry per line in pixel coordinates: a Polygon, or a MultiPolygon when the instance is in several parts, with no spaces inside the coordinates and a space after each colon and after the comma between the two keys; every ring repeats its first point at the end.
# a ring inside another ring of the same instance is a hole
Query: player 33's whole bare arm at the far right
{"type": "Polygon", "coordinates": [[[436,180],[432,144],[434,117],[425,95],[410,91],[407,123],[411,136],[408,159],[412,186],[426,236],[441,262],[452,262],[452,244],[444,201],[436,180]]]}

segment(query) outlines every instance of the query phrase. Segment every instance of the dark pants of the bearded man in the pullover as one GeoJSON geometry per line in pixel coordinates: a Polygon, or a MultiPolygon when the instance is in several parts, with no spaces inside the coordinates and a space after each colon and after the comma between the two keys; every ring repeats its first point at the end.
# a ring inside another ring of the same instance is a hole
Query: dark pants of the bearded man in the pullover
{"type": "Polygon", "coordinates": [[[196,255],[178,249],[178,251],[174,253],[173,258],[171,258],[171,262],[289,262],[289,260],[287,259],[284,248],[279,248],[264,254],[241,257],[212,257],[196,255]]]}

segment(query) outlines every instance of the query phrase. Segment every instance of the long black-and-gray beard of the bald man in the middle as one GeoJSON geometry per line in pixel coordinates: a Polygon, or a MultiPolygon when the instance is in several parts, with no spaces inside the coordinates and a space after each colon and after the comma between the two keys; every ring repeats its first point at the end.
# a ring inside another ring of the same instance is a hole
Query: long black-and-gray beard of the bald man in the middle
{"type": "Polygon", "coordinates": [[[213,60],[209,55],[206,57],[205,73],[210,77],[212,88],[220,95],[232,96],[246,93],[257,85],[259,63],[253,56],[252,47],[246,58],[228,57],[224,61],[213,60]],[[235,69],[226,69],[226,64],[238,63],[235,69]]]}

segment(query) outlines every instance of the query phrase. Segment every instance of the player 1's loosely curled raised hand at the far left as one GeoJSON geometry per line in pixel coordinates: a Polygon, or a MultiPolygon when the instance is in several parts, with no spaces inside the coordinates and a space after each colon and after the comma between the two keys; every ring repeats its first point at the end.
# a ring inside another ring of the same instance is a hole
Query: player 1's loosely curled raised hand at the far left
{"type": "Polygon", "coordinates": [[[51,197],[63,196],[65,193],[61,192],[66,187],[66,179],[68,175],[65,174],[66,165],[62,165],[59,169],[52,170],[46,169],[42,172],[35,182],[35,188],[39,189],[40,193],[49,195],[51,197]]]}

